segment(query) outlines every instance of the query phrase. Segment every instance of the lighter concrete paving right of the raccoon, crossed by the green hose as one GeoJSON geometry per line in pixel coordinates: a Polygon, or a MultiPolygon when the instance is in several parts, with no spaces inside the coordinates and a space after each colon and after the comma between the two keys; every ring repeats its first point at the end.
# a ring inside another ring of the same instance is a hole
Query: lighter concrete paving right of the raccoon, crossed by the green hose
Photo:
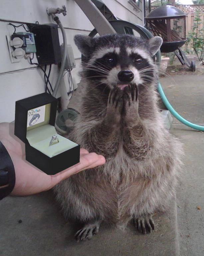
{"type": "MultiPolygon", "coordinates": [[[[175,110],[190,122],[204,126],[204,75],[160,78],[175,110]]],[[[204,133],[173,118],[171,132],[184,143],[183,176],[177,188],[180,256],[204,255],[204,133]]]]}

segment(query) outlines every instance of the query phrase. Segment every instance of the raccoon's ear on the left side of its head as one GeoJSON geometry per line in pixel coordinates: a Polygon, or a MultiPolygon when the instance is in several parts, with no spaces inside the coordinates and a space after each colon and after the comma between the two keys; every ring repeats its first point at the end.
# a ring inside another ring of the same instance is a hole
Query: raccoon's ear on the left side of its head
{"type": "Polygon", "coordinates": [[[85,35],[75,35],[74,41],[80,52],[85,56],[90,56],[90,48],[91,48],[91,37],[85,35]]]}

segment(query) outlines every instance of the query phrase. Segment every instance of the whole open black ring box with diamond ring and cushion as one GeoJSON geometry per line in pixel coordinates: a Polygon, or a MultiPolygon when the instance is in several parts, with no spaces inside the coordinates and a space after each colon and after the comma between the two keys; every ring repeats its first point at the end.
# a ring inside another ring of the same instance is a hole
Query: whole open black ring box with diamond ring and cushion
{"type": "Polygon", "coordinates": [[[69,168],[80,158],[80,145],[55,130],[57,103],[48,93],[16,101],[14,134],[25,143],[26,160],[47,174],[69,168]]]}

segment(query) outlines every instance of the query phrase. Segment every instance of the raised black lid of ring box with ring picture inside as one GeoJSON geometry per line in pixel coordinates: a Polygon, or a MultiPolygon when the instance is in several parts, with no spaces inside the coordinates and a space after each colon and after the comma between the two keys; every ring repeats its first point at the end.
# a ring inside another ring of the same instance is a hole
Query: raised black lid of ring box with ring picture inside
{"type": "Polygon", "coordinates": [[[24,143],[27,130],[35,129],[45,124],[55,126],[58,99],[48,93],[41,93],[32,97],[16,101],[14,134],[24,143]],[[41,117],[40,117],[41,114],[41,117]],[[32,117],[36,124],[32,126],[32,117]],[[40,117],[40,118],[39,118],[40,117]],[[38,120],[39,119],[39,120],[38,120]]]}

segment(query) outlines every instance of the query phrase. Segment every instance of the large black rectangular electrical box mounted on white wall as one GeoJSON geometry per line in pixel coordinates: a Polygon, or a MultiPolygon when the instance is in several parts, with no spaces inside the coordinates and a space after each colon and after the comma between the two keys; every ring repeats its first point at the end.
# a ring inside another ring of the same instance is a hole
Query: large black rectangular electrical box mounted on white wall
{"type": "Polygon", "coordinates": [[[58,64],[61,61],[58,25],[36,24],[31,26],[31,31],[35,37],[38,64],[58,64]]]}

